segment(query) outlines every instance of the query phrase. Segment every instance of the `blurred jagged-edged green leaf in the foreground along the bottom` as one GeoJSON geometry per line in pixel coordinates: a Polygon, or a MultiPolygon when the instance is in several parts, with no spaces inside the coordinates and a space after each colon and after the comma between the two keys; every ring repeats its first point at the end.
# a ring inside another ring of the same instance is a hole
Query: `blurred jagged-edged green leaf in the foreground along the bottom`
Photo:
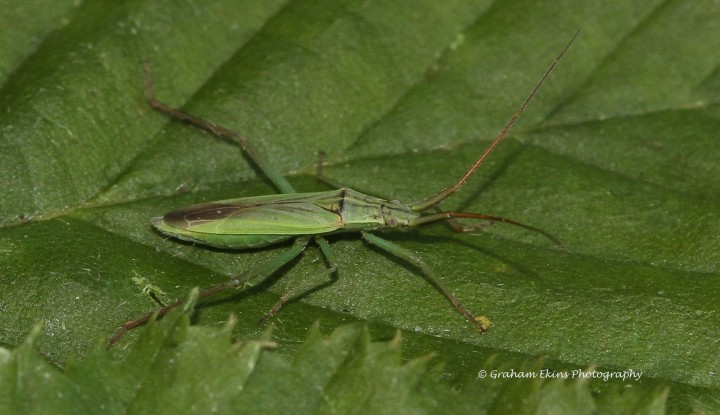
{"type": "MultiPolygon", "coordinates": [[[[427,371],[431,356],[403,363],[399,333],[371,342],[360,324],[329,337],[315,324],[288,360],[268,351],[275,345],[268,335],[233,344],[235,319],[223,328],[191,327],[196,299],[197,290],[183,308],[159,324],[151,321],[125,362],[99,344],[63,373],[36,351],[39,329],[14,351],[0,348],[0,412],[427,414],[477,412],[490,404],[491,413],[577,414],[596,408],[582,379],[508,378],[493,387],[476,381],[458,393],[427,371]]],[[[540,364],[528,362],[525,369],[537,371],[540,364]]],[[[613,400],[609,413],[664,413],[666,395],[660,387],[633,388],[613,400]]]]}

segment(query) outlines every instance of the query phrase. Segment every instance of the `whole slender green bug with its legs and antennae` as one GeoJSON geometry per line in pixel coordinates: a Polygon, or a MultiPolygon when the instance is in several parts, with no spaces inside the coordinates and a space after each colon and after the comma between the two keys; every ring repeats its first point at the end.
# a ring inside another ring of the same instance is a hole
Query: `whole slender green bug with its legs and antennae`
{"type": "MultiPolygon", "coordinates": [[[[448,221],[457,231],[464,232],[477,229],[478,226],[463,227],[456,224],[454,219],[471,218],[521,226],[539,232],[559,245],[559,242],[547,232],[507,218],[478,213],[438,211],[436,206],[455,193],[505,138],[579,32],[578,29],[502,131],[465,175],[434,195],[408,204],[368,196],[347,188],[326,192],[295,193],[290,183],[241,134],[158,101],[153,93],[150,69],[146,63],[145,96],[153,108],[172,118],[207,130],[218,137],[236,141],[260,171],[280,191],[280,194],[276,195],[221,200],[185,207],[154,218],[152,225],[167,236],[223,249],[260,248],[294,239],[290,248],[278,256],[223,284],[200,291],[198,298],[208,297],[228,289],[243,288],[253,278],[270,274],[296,258],[308,247],[311,240],[315,241],[327,261],[328,269],[325,272],[328,275],[333,274],[338,269],[338,262],[325,236],[341,232],[359,232],[368,243],[421,269],[432,284],[452,303],[453,307],[479,331],[483,332],[490,325],[489,320],[484,316],[475,317],[465,308],[420,257],[393,242],[372,234],[371,231],[382,228],[405,229],[432,222],[448,221]],[[434,213],[422,213],[431,209],[434,213]]],[[[331,183],[322,175],[322,159],[318,163],[318,179],[331,183]]],[[[289,292],[283,295],[261,321],[275,315],[283,304],[297,294],[299,293],[289,292]]],[[[108,345],[112,346],[125,332],[147,322],[153,314],[157,313],[158,316],[162,316],[181,303],[182,300],[178,300],[138,319],[126,322],[110,338],[108,345]]]]}

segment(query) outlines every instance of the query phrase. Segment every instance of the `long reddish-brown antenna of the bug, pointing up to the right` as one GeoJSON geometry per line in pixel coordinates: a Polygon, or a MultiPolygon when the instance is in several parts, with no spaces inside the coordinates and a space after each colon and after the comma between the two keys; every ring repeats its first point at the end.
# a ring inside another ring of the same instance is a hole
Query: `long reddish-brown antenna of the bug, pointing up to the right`
{"type": "Polygon", "coordinates": [[[527,98],[525,98],[525,101],[523,101],[522,105],[520,105],[520,108],[518,108],[518,110],[515,111],[515,114],[513,114],[513,116],[510,118],[510,120],[507,122],[507,124],[505,124],[505,127],[502,129],[502,131],[500,131],[500,134],[498,134],[497,137],[495,137],[495,139],[492,141],[492,143],[490,143],[490,146],[487,148],[487,150],[485,150],[485,152],[480,156],[480,158],[477,159],[475,164],[473,164],[470,167],[470,169],[468,169],[467,173],[465,173],[465,175],[460,180],[458,180],[457,183],[446,187],[445,189],[430,196],[427,199],[412,203],[409,206],[410,209],[412,209],[414,211],[420,211],[420,210],[425,210],[425,209],[431,208],[431,207],[437,205],[438,203],[442,202],[443,200],[447,199],[450,195],[455,193],[460,188],[460,186],[465,184],[465,182],[470,178],[470,176],[472,176],[472,174],[475,172],[475,170],[482,164],[483,161],[485,161],[485,158],[488,155],[490,155],[490,153],[492,153],[493,150],[495,150],[495,147],[497,147],[497,145],[500,144],[500,142],[505,138],[508,131],[510,131],[510,128],[512,128],[512,126],[515,124],[515,122],[518,120],[518,118],[520,118],[520,115],[523,113],[523,111],[525,111],[525,108],[530,103],[530,101],[533,99],[533,97],[535,96],[535,93],[538,91],[538,89],[540,89],[540,86],[545,82],[545,79],[547,79],[548,75],[550,75],[550,73],[553,71],[553,69],[555,69],[555,65],[557,65],[557,63],[560,61],[560,59],[562,59],[562,57],[565,55],[565,52],[567,52],[567,50],[570,49],[570,45],[572,45],[573,42],[575,41],[575,38],[578,37],[578,35],[580,34],[580,30],[582,30],[582,27],[578,28],[578,30],[573,35],[572,39],[570,39],[568,44],[565,45],[565,48],[563,48],[562,52],[560,52],[560,54],[557,56],[557,58],[555,58],[553,63],[547,69],[547,71],[545,71],[545,74],[542,76],[542,78],[540,78],[540,81],[538,81],[538,83],[535,84],[535,87],[532,89],[532,91],[530,91],[530,94],[527,96],[527,98]]]}

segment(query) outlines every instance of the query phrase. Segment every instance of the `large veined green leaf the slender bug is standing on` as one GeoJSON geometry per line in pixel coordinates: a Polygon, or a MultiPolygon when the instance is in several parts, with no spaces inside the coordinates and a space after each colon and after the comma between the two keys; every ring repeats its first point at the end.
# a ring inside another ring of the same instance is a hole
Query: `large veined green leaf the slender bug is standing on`
{"type": "Polygon", "coordinates": [[[0,7],[6,346],[40,323],[36,346],[64,365],[157,307],[151,294],[183,297],[287,249],[225,252],[152,231],[150,218],[171,209],[274,189],[236,145],[150,109],[143,59],[162,101],[242,132],[298,190],[326,189],[314,180],[324,150],[329,177],[410,202],[465,172],[582,25],[508,140],[443,204],[540,227],[563,249],[502,224],[384,233],[487,316],[488,333],[417,269],[352,234],[330,238],[336,281],[309,249],[195,318],[219,327],[233,312],[233,338],[260,338],[257,319],[302,285],[273,321],[286,356],[317,319],[363,321],[373,338],[401,329],[409,356],[438,351],[453,384],[491,355],[516,369],[545,355],[555,371],[667,379],[671,411],[720,411],[712,1],[10,3],[0,7]]]}

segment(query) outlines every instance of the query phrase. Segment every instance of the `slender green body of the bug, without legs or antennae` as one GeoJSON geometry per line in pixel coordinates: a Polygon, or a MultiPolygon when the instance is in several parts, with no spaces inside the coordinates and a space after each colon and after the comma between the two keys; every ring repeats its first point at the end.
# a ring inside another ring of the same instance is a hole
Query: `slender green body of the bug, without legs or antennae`
{"type": "Polygon", "coordinates": [[[299,235],[412,226],[421,215],[398,202],[341,188],[192,205],[154,218],[174,238],[218,248],[258,248],[299,235]]]}

